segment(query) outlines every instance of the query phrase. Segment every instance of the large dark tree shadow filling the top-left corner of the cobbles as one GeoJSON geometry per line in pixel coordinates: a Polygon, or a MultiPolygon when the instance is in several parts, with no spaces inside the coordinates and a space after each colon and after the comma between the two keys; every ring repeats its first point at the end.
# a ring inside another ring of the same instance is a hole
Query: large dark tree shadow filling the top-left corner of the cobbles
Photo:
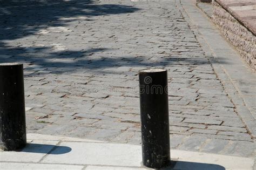
{"type": "Polygon", "coordinates": [[[91,21],[91,16],[117,15],[139,10],[129,5],[98,4],[90,0],[1,0],[0,2],[1,41],[33,35],[49,26],[65,26],[77,16],[84,17],[85,21],[91,21]]]}

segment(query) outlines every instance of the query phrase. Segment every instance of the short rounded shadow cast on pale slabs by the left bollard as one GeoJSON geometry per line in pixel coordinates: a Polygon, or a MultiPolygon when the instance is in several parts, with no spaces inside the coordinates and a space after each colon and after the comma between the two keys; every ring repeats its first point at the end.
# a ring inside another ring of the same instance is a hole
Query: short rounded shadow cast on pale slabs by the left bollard
{"type": "Polygon", "coordinates": [[[57,145],[46,145],[46,144],[26,144],[26,147],[20,152],[29,153],[45,153],[45,154],[65,154],[69,153],[72,149],[67,146],[57,146],[57,145]],[[56,150],[58,152],[52,152],[56,150]]]}

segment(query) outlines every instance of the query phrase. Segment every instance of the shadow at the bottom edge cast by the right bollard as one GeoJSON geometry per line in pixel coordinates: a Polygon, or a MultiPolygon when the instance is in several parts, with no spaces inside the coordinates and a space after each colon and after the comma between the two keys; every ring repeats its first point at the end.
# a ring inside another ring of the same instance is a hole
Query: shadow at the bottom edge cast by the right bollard
{"type": "Polygon", "coordinates": [[[162,170],[178,170],[178,169],[189,169],[189,170],[225,170],[226,168],[217,164],[206,164],[199,162],[187,162],[187,161],[171,161],[170,165],[162,170]]]}

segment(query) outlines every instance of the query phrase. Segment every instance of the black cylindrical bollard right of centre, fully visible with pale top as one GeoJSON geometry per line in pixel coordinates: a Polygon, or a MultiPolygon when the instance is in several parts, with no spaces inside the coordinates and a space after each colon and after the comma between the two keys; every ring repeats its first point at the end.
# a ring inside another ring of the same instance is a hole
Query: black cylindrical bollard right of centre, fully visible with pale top
{"type": "Polygon", "coordinates": [[[143,165],[162,168],[170,164],[167,70],[139,71],[143,165]]]}

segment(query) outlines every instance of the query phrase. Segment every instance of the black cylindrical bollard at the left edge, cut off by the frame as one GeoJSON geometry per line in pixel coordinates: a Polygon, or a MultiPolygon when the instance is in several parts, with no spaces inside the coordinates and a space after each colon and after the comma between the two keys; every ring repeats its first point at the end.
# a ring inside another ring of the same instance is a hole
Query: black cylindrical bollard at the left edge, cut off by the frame
{"type": "Polygon", "coordinates": [[[26,145],[23,64],[0,64],[0,133],[4,151],[26,145]]]}

